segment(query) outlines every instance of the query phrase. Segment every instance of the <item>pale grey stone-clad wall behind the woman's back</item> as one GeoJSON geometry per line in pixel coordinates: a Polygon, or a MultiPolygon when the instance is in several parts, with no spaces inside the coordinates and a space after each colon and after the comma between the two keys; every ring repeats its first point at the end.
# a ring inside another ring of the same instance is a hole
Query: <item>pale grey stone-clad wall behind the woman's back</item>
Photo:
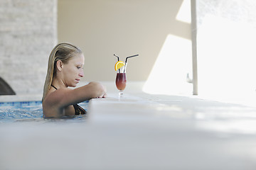
{"type": "Polygon", "coordinates": [[[16,94],[41,94],[57,42],[57,0],[0,1],[0,77],[16,94]]]}

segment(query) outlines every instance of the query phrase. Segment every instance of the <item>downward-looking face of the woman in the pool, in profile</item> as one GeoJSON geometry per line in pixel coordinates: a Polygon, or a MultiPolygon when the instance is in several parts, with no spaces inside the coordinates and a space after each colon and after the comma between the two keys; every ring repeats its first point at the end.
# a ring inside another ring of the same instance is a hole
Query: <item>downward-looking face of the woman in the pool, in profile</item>
{"type": "Polygon", "coordinates": [[[63,64],[63,77],[66,86],[75,87],[80,79],[84,77],[83,65],[85,64],[85,57],[83,54],[78,54],[63,64]]]}

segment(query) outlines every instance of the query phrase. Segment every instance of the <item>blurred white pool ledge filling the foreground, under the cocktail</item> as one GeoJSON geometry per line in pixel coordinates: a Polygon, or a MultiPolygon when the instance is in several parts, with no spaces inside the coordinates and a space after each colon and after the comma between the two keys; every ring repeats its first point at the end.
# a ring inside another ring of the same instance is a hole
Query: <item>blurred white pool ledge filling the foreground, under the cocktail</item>
{"type": "Polygon", "coordinates": [[[129,91],[95,98],[85,121],[0,124],[0,169],[256,167],[256,108],[129,91]]]}

